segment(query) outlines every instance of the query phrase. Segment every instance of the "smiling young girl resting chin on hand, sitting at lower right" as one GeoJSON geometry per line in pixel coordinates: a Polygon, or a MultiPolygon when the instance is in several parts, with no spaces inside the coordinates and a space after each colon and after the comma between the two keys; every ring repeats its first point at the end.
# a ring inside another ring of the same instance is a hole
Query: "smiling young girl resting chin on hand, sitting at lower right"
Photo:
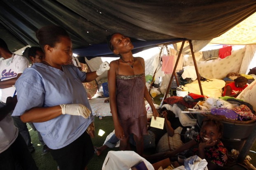
{"type": "Polygon", "coordinates": [[[227,149],[223,146],[220,138],[223,133],[223,124],[214,119],[204,119],[200,135],[197,135],[194,140],[187,142],[180,148],[167,153],[169,157],[192,148],[198,145],[198,148],[193,149],[193,154],[208,162],[207,168],[209,170],[220,169],[218,166],[223,166],[228,157],[227,149]]]}

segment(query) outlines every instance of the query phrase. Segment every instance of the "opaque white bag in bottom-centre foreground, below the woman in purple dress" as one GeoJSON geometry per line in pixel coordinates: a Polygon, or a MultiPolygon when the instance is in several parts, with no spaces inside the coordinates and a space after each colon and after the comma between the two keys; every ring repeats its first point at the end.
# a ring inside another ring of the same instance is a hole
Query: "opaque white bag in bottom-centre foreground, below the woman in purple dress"
{"type": "Polygon", "coordinates": [[[142,161],[148,170],[154,170],[151,163],[134,151],[109,151],[103,163],[102,170],[129,170],[142,161]]]}

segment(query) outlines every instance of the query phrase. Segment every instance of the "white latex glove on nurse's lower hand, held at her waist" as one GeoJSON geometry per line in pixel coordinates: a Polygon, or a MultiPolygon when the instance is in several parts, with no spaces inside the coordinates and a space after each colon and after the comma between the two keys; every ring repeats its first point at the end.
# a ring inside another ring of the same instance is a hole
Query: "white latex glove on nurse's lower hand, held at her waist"
{"type": "Polygon", "coordinates": [[[83,116],[87,119],[91,113],[91,111],[82,104],[62,104],[60,106],[62,114],[83,116]]]}

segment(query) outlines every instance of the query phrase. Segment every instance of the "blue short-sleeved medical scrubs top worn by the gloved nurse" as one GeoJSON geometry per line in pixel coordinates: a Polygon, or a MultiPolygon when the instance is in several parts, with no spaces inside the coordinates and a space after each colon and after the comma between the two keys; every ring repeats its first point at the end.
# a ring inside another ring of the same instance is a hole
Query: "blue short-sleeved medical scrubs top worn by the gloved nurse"
{"type": "MultiPolygon", "coordinates": [[[[86,72],[73,65],[63,65],[62,70],[35,63],[27,68],[15,83],[18,103],[12,116],[21,116],[33,107],[52,107],[60,104],[81,103],[92,109],[82,81],[86,72]]],[[[52,120],[34,123],[51,149],[60,149],[76,140],[94,121],[92,113],[82,116],[62,114],[52,120]]]]}

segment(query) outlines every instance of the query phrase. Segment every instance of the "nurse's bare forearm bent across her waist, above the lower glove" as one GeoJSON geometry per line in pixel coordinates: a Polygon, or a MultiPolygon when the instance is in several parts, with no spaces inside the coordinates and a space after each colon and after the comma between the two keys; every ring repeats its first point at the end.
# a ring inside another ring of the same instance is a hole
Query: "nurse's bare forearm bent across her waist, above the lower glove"
{"type": "Polygon", "coordinates": [[[34,107],[20,116],[23,122],[44,122],[61,115],[60,105],[52,107],[34,107]]]}

